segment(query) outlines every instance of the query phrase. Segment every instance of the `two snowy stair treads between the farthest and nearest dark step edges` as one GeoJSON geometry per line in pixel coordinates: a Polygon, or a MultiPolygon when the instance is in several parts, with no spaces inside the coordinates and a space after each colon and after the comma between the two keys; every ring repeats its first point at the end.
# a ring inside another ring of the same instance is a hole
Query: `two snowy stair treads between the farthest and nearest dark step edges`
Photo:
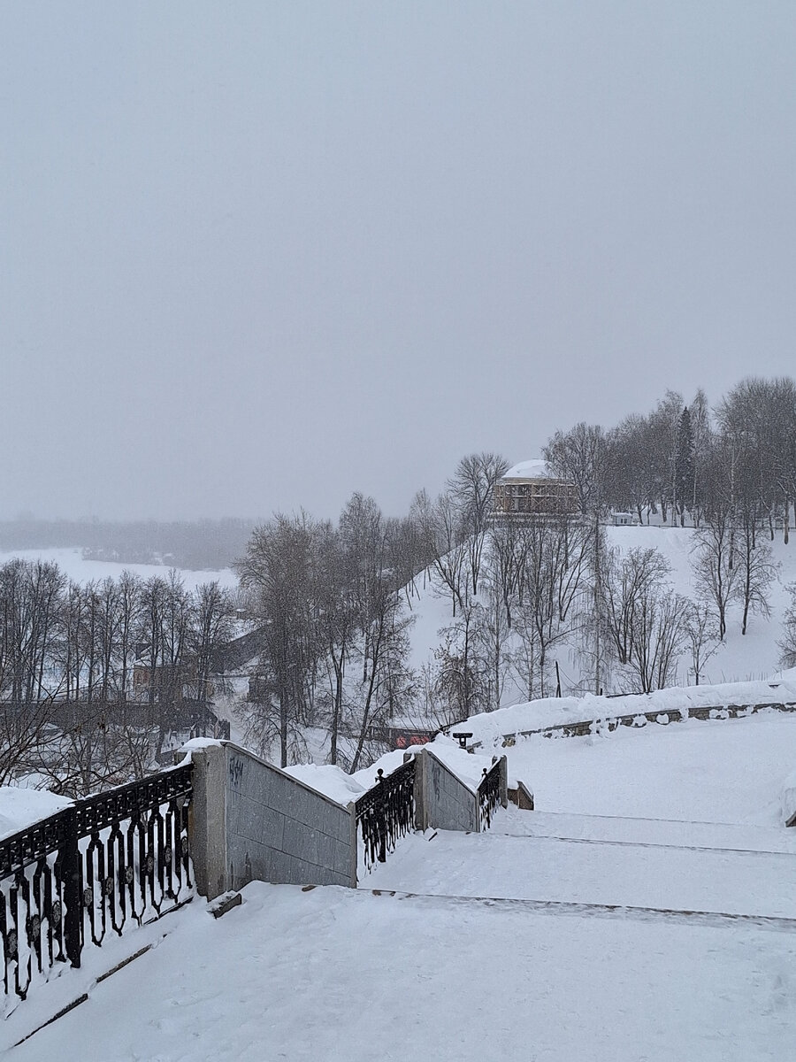
{"type": "Polygon", "coordinates": [[[748,825],[509,808],[487,833],[409,838],[362,886],[523,901],[564,913],[574,905],[796,920],[796,837],[748,825]]]}

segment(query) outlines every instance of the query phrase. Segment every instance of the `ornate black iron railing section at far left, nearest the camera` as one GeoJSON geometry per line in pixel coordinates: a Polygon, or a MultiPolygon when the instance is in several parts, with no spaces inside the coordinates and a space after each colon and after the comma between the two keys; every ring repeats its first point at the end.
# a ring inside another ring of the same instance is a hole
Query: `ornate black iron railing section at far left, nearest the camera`
{"type": "MultiPolygon", "coordinates": [[[[6,997],[36,977],[179,907],[193,894],[191,765],[119,786],[0,841],[0,947],[6,997]]],[[[0,1008],[0,1012],[1,1012],[0,1008]]]]}

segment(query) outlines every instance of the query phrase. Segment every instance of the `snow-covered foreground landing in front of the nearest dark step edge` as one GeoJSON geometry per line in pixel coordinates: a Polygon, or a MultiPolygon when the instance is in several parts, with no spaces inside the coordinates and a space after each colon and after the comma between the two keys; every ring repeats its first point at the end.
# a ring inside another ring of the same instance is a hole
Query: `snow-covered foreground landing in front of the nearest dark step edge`
{"type": "Polygon", "coordinates": [[[221,920],[173,918],[10,1059],[750,1062],[796,1043],[796,935],[741,920],[260,883],[221,920]]]}

